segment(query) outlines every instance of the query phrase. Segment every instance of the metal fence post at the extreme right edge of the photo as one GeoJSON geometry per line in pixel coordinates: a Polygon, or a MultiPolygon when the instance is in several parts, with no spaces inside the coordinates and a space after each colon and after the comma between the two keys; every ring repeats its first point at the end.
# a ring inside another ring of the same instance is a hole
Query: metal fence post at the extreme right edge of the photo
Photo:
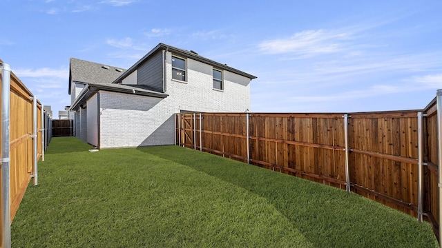
{"type": "Polygon", "coordinates": [[[439,187],[439,244],[442,247],[442,90],[436,93],[436,109],[437,109],[437,140],[438,140],[438,183],[439,187]]]}

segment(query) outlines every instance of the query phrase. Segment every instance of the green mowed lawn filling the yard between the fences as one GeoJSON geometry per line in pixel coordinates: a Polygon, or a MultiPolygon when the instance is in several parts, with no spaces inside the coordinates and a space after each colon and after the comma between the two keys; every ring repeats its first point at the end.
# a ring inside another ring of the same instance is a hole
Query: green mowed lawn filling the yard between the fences
{"type": "Polygon", "coordinates": [[[389,207],[177,146],[88,152],[52,138],[12,247],[438,247],[389,207]]]}

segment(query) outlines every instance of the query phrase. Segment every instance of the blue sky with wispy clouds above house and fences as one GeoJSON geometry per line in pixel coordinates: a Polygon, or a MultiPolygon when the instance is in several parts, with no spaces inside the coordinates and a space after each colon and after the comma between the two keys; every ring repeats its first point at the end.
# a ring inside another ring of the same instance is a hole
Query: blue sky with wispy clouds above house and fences
{"type": "Polygon", "coordinates": [[[251,112],[425,107],[442,88],[442,1],[2,1],[0,59],[54,116],[69,58],[129,68],[158,43],[258,79],[251,112]]]}

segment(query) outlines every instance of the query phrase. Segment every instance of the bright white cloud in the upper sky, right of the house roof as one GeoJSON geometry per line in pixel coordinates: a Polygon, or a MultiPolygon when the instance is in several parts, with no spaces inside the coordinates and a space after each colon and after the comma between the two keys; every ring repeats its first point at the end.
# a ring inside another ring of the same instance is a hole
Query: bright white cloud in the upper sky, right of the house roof
{"type": "Polygon", "coordinates": [[[289,52],[308,57],[345,50],[345,41],[350,37],[350,32],[340,30],[305,30],[286,39],[262,41],[258,49],[266,54],[289,52]]]}

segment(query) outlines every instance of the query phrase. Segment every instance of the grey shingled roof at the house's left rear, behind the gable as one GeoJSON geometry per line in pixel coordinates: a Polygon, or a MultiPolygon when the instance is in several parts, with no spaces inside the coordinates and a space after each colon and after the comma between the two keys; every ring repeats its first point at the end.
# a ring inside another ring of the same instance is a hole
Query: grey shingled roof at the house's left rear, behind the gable
{"type": "Polygon", "coordinates": [[[69,94],[71,81],[78,83],[112,83],[126,71],[111,65],[75,58],[70,58],[69,69],[69,94]]]}

